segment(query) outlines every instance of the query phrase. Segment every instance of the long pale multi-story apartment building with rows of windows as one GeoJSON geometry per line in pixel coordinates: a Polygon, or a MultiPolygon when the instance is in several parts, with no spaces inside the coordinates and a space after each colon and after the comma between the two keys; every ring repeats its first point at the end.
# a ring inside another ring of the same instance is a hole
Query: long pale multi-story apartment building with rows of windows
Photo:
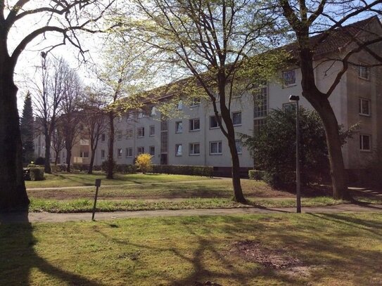
{"type": "MultiPolygon", "coordinates": [[[[337,59],[343,58],[355,46],[353,37],[369,37],[368,31],[382,35],[378,18],[344,27],[320,44],[314,58],[319,89],[329,89],[342,68],[342,63],[337,59]]],[[[382,54],[381,43],[371,48],[379,55],[382,54]]],[[[345,129],[359,123],[357,134],[343,146],[345,167],[359,169],[376,157],[376,152],[380,152],[382,147],[382,71],[381,67],[371,67],[375,60],[367,51],[355,53],[350,60],[353,64],[343,74],[330,101],[339,124],[345,129]]],[[[291,104],[288,102],[290,95],[301,95],[301,72],[298,67],[280,71],[280,77],[284,79],[283,84],[268,82],[257,96],[246,93],[232,100],[231,118],[236,132],[252,135],[254,130],[264,124],[269,110],[285,108],[291,104]]],[[[312,108],[302,97],[300,104],[312,108]]],[[[117,164],[134,164],[136,155],[148,152],[153,155],[153,164],[229,168],[231,156],[227,139],[217,126],[208,100],[194,101],[187,105],[180,100],[177,110],[181,110],[183,115],[166,120],[161,119],[155,108],[116,119],[114,158],[117,164]]],[[[241,167],[253,167],[253,159],[239,140],[237,147],[241,167]]],[[[95,164],[106,160],[107,153],[108,138],[107,134],[103,134],[98,144],[95,164]]]]}

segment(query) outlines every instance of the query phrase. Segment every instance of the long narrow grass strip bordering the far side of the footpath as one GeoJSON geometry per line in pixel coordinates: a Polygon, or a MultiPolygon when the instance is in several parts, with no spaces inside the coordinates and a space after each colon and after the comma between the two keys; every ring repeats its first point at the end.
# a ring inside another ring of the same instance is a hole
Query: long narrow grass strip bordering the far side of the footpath
{"type": "MultiPolygon", "coordinates": [[[[342,204],[343,200],[333,200],[331,197],[312,197],[302,200],[303,207],[322,207],[342,204]]],[[[92,200],[41,200],[32,199],[30,212],[91,212],[92,200]]],[[[238,207],[295,207],[295,200],[249,200],[248,204],[240,204],[224,198],[192,198],[186,200],[98,200],[97,212],[127,212],[158,209],[219,209],[238,207]]]]}

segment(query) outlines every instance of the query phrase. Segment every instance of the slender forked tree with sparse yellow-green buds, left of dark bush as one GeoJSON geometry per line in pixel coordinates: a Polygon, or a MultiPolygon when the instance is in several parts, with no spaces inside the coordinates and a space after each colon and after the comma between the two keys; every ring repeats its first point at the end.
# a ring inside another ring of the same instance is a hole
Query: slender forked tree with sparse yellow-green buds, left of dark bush
{"type": "MultiPolygon", "coordinates": [[[[194,86],[212,103],[220,130],[231,153],[234,200],[246,202],[241,189],[231,103],[238,70],[248,56],[272,46],[276,15],[253,1],[135,0],[141,12],[126,22],[130,37],[141,39],[158,52],[158,59],[182,68],[196,79],[194,86]],[[132,31],[132,32],[131,32],[132,31]]],[[[257,58],[258,63],[260,59],[257,58]]],[[[274,70],[269,67],[269,70],[274,70]]],[[[257,79],[262,74],[257,74],[257,79]]],[[[195,91],[195,87],[191,90],[195,91]]]]}

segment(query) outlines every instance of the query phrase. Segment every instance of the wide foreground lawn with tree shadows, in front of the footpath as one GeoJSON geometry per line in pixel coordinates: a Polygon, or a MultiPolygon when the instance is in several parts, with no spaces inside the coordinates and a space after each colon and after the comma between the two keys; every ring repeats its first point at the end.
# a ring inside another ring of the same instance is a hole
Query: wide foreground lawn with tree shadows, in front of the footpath
{"type": "Polygon", "coordinates": [[[0,285],[381,285],[382,214],[0,225],[0,285]]]}

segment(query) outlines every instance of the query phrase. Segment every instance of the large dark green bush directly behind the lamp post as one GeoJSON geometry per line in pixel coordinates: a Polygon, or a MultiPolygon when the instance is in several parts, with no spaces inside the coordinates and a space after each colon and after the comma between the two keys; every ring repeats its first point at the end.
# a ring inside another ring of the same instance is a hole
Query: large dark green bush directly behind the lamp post
{"type": "MultiPolygon", "coordinates": [[[[315,111],[300,108],[300,160],[303,183],[329,176],[325,131],[315,111]]],[[[343,142],[351,132],[342,132],[343,142]]],[[[255,160],[255,168],[265,171],[264,180],[274,188],[295,181],[295,110],[272,110],[267,122],[254,137],[242,135],[255,160]]]]}

